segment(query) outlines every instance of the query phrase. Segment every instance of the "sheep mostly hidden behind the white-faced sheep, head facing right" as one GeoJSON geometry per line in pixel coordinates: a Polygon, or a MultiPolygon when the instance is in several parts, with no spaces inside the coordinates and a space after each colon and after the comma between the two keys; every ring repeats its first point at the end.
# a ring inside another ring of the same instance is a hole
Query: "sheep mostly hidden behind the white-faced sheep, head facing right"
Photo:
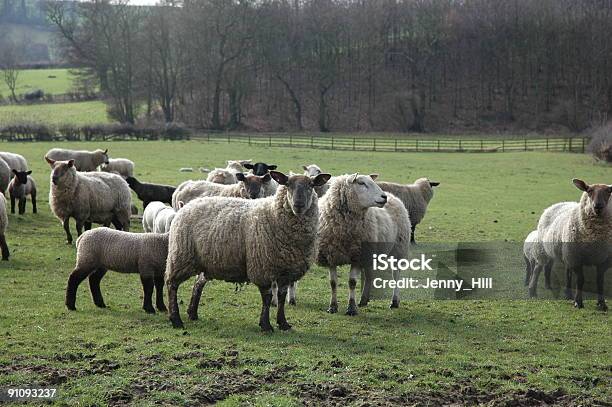
{"type": "Polygon", "coordinates": [[[416,243],[414,234],[416,226],[421,223],[427,211],[427,205],[433,198],[433,187],[440,185],[439,182],[430,181],[427,178],[419,178],[413,184],[396,184],[393,182],[377,182],[378,186],[385,191],[398,197],[410,215],[412,225],[411,242],[416,243]]]}

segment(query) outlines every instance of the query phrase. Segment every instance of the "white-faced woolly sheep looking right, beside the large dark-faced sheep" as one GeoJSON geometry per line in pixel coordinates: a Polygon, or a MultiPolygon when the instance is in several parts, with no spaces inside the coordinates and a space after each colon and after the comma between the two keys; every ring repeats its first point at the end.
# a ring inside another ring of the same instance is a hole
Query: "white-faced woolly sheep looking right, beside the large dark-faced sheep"
{"type": "MultiPolygon", "coordinates": [[[[405,258],[410,246],[410,217],[402,202],[385,193],[375,182],[376,174],[335,177],[329,190],[320,200],[319,242],[317,264],[329,268],[331,301],[328,312],[338,312],[336,298],[336,268],[351,265],[349,277],[349,305],[347,315],[357,315],[355,287],[363,270],[365,281],[359,306],[370,299],[372,272],[362,265],[372,258],[362,253],[366,246],[376,246],[377,254],[384,252],[395,258],[405,258]],[[382,244],[383,242],[390,243],[382,244]],[[377,244],[378,243],[378,244],[377,244]],[[384,247],[379,247],[384,246],[384,247]]],[[[399,272],[393,273],[399,278],[399,272]]],[[[280,298],[279,298],[280,305],[280,298]]],[[[399,307],[399,288],[393,290],[391,308],[399,307]]]]}

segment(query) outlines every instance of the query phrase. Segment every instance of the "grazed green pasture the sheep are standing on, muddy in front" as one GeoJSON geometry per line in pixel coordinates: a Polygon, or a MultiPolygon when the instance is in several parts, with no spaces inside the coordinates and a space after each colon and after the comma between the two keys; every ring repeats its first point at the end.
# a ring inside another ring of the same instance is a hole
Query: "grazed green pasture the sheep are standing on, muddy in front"
{"type": "MultiPolygon", "coordinates": [[[[578,199],[572,177],[609,182],[610,174],[578,154],[352,153],[197,141],[62,146],[108,147],[111,156],[134,160],[139,178],[159,183],[201,175],[180,167],[246,158],[285,171],[316,162],[332,173],[377,172],[395,181],[426,175],[442,184],[417,229],[421,242],[522,241],[543,208],[578,199]]],[[[0,146],[29,160],[41,201],[39,214],[28,204],[25,216],[9,217],[12,258],[0,264],[0,387],[56,386],[58,404],[81,406],[604,405],[612,398],[612,325],[594,301],[574,310],[554,300],[411,300],[404,291],[398,310],[379,300],[351,318],[325,312],[327,272],[314,267],[288,309],[289,332],[262,334],[257,290],[223,282],[206,287],[200,320],[185,330],[141,310],[135,275],[106,275],[108,309],[97,309],[82,284],[78,311],[68,312],[64,289],[75,253],[46,203],[42,157],[51,147],[0,146]]],[[[517,282],[522,275],[517,267],[517,282]]],[[[183,316],[191,281],[179,290],[183,316]]],[[[345,269],[339,282],[344,307],[345,269]]]]}

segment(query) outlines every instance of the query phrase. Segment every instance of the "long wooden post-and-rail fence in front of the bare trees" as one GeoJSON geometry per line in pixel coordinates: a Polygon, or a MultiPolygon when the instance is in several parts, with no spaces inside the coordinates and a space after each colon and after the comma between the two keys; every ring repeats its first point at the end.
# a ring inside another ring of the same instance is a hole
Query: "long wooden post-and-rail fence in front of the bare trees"
{"type": "Polygon", "coordinates": [[[252,146],[296,147],[339,151],[387,152],[510,152],[555,151],[584,153],[587,137],[523,139],[402,139],[366,137],[329,137],[319,135],[220,134],[192,136],[209,142],[242,143],[252,146]]]}

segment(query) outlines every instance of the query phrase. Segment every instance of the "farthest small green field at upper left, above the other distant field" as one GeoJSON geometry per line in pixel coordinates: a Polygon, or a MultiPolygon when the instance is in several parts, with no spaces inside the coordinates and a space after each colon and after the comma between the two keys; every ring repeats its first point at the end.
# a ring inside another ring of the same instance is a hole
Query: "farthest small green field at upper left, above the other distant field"
{"type": "MultiPolygon", "coordinates": [[[[15,93],[21,95],[34,89],[42,89],[47,95],[68,93],[72,89],[72,79],[69,69],[23,69],[19,71],[15,93]]],[[[0,81],[0,95],[10,96],[4,81],[0,81]]]]}

